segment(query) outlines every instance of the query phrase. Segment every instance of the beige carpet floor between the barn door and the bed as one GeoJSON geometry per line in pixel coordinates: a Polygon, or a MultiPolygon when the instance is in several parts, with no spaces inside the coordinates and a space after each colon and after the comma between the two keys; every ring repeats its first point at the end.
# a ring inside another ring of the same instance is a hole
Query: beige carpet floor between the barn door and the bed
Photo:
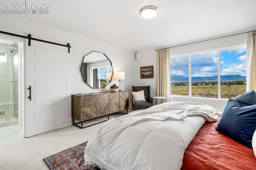
{"type": "MultiPolygon", "coordinates": [[[[102,123],[84,129],[70,126],[29,138],[0,142],[0,169],[48,170],[43,158],[88,141],[101,125],[102,123]]],[[[1,129],[2,134],[4,132],[1,129]]],[[[4,137],[2,134],[1,138],[4,137]]]]}

